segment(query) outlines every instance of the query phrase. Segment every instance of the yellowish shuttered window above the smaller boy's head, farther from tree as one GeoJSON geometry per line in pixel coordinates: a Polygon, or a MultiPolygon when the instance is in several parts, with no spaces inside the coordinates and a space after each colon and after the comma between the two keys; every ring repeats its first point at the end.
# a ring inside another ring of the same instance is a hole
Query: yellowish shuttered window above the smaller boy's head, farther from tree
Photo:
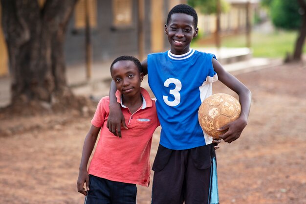
{"type": "Polygon", "coordinates": [[[132,0],[112,0],[113,24],[127,26],[132,23],[132,0]]]}

